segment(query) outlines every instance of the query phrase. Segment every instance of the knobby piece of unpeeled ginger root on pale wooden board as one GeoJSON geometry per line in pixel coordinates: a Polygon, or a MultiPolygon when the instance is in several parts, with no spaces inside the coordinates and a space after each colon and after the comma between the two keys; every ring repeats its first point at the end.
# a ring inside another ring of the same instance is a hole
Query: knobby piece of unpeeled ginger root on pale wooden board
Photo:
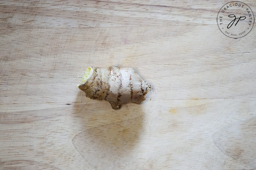
{"type": "Polygon", "coordinates": [[[119,66],[88,67],[78,88],[90,99],[108,101],[113,109],[128,102],[140,104],[151,91],[151,86],[133,68],[119,66]]]}

